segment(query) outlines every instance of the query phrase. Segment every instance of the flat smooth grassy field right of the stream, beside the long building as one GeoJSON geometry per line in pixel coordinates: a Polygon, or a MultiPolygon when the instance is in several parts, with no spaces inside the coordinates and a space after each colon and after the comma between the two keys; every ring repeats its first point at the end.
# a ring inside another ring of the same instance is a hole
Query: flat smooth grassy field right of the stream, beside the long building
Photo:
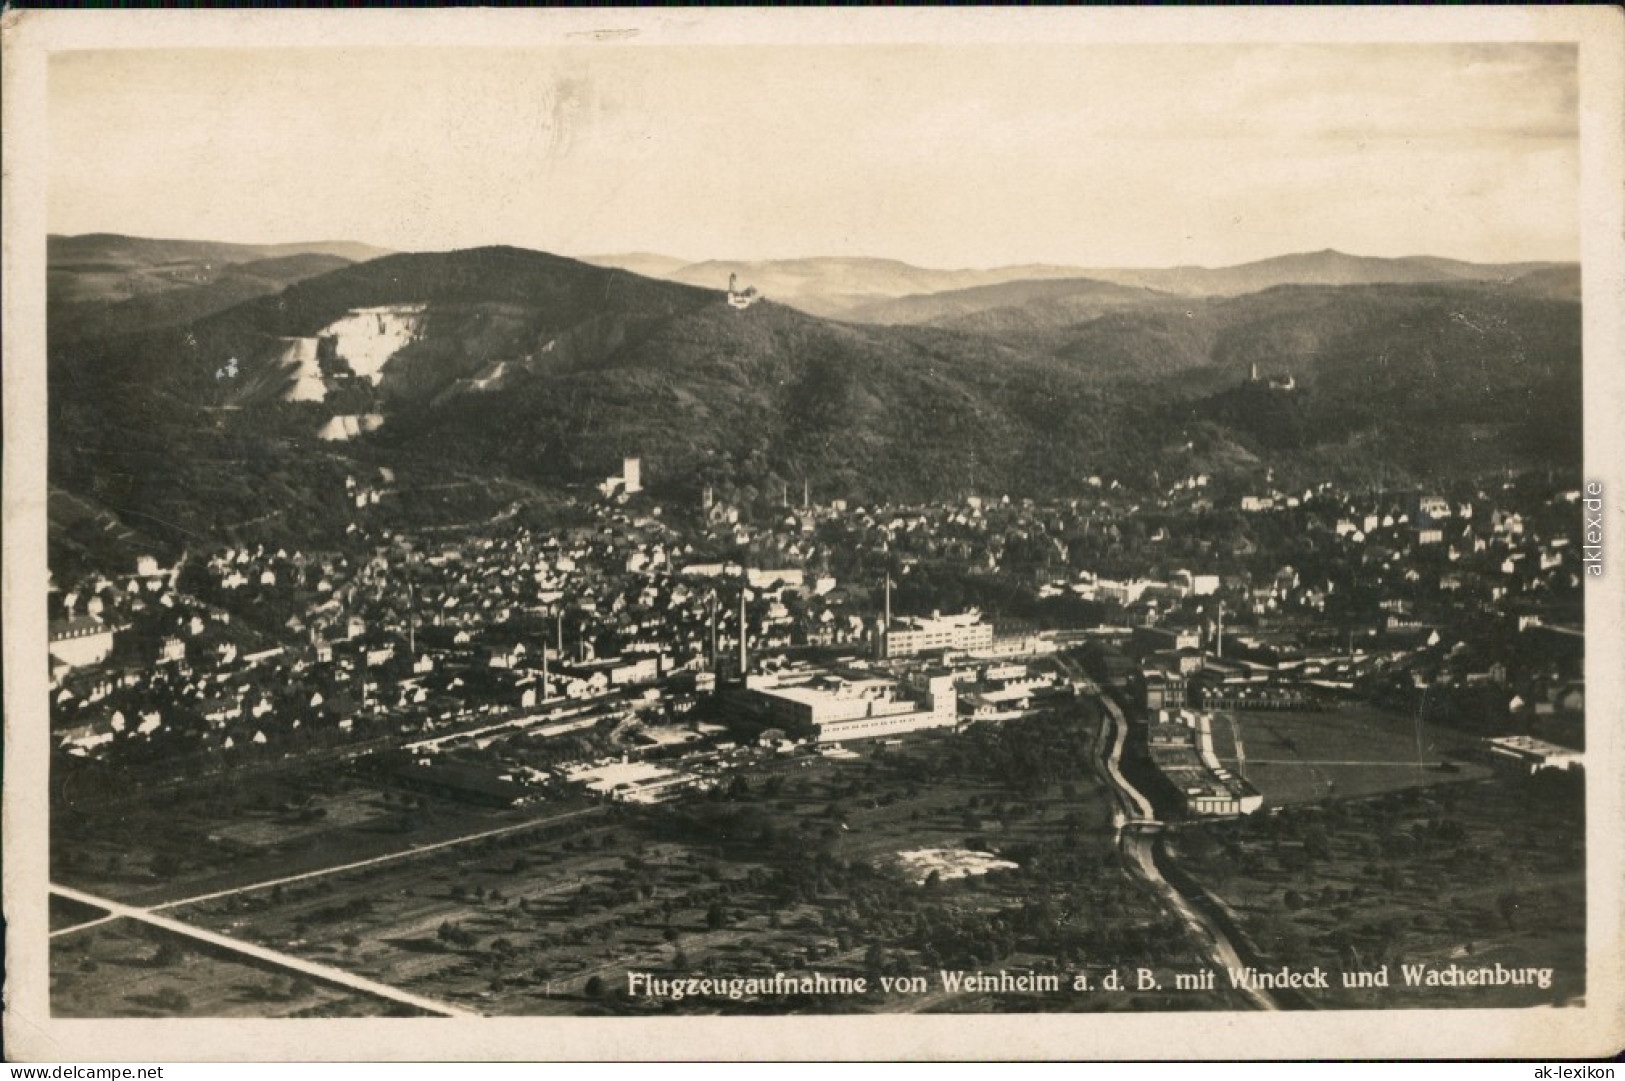
{"type": "Polygon", "coordinates": [[[1490,772],[1462,761],[1477,753],[1477,740],[1428,723],[1422,725],[1419,767],[1414,718],[1365,704],[1341,704],[1324,712],[1220,710],[1214,714],[1214,751],[1232,767],[1237,756],[1230,718],[1242,732],[1246,779],[1264,793],[1266,806],[1476,780],[1490,772]],[[1445,759],[1459,772],[1438,771],[1445,759]]]}

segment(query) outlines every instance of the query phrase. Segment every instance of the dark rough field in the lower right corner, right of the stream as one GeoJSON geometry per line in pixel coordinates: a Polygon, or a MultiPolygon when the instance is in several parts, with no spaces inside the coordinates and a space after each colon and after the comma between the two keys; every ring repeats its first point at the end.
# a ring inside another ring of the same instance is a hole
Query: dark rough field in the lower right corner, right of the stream
{"type": "Polygon", "coordinates": [[[1584,995],[1581,775],[1490,777],[1193,823],[1172,840],[1266,962],[1376,972],[1334,1008],[1563,1005],[1584,995]],[[1402,964],[1547,969],[1550,987],[1406,987],[1402,964]]]}

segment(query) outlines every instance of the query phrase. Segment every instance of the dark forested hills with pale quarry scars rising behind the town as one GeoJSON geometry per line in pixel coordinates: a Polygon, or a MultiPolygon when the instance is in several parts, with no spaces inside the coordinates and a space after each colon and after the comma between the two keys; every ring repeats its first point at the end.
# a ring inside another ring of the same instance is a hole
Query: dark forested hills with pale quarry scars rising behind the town
{"type": "Polygon", "coordinates": [[[1563,289],[1554,271],[1211,299],[1107,286],[1110,310],[1077,322],[967,332],[741,309],[520,249],[387,255],[180,325],[54,341],[52,483],[206,536],[266,507],[341,528],[341,502],[309,493],[362,465],[557,488],[635,454],[656,493],[808,480],[861,501],[1180,468],[1571,465],[1563,289]],[[1246,384],[1254,363],[1294,389],[1246,384]],[[317,437],[346,416],[375,423],[317,437]]]}

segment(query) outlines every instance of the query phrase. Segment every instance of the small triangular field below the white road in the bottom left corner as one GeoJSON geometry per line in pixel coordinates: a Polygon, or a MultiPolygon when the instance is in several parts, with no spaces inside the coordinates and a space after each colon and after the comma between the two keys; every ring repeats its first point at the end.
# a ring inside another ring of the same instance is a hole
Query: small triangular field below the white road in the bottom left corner
{"type": "Polygon", "coordinates": [[[50,943],[58,1018],[375,1018],[410,1009],[271,970],[130,920],[50,943]]]}

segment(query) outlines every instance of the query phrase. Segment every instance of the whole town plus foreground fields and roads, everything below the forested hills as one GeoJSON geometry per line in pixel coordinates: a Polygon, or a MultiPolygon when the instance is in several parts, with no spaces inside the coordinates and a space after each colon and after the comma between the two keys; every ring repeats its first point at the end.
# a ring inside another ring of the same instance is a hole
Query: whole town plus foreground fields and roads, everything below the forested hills
{"type": "MultiPolygon", "coordinates": [[[[635,1014],[733,1008],[629,996],[650,970],[879,985],[949,962],[998,990],[1578,951],[1584,567],[1560,478],[1090,475],[1072,499],[920,506],[665,480],[629,455],[562,502],[411,525],[395,475],[356,467],[341,543],[54,574],[58,1008],[635,1014]],[[176,933],[192,953],[145,944],[176,933]]],[[[1563,972],[1497,1001],[1581,1000],[1563,972]]]]}

